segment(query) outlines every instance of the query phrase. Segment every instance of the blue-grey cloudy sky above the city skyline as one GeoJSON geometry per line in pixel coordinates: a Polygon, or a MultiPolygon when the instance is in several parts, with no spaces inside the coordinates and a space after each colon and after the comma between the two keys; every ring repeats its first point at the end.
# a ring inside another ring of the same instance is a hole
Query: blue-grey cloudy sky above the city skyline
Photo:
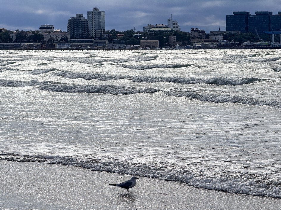
{"type": "Polygon", "coordinates": [[[182,31],[225,30],[233,11],[281,11],[280,0],[0,0],[0,28],[39,30],[43,24],[66,31],[70,17],[98,7],[105,11],[105,29],[143,31],[147,24],[165,24],[172,14],[182,31]]]}

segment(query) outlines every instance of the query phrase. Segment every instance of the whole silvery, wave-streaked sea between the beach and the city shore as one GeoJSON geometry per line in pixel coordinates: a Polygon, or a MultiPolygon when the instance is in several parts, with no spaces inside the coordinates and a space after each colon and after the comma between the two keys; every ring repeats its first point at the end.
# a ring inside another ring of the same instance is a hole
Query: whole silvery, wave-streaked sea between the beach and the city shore
{"type": "Polygon", "coordinates": [[[279,50],[2,50],[0,110],[0,160],[281,198],[279,50]]]}

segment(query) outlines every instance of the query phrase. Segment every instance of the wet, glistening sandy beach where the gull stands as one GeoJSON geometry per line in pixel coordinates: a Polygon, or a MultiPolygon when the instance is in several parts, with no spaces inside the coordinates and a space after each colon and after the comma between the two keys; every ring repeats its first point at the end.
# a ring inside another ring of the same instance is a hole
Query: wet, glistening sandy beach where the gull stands
{"type": "Polygon", "coordinates": [[[37,162],[0,161],[0,209],[280,209],[280,199],[202,190],[131,175],[37,162]]]}

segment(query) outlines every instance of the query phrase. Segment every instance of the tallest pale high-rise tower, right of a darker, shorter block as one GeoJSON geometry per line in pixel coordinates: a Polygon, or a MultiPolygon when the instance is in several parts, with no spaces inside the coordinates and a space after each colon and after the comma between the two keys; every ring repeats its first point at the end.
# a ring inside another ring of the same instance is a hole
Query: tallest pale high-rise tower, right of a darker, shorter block
{"type": "Polygon", "coordinates": [[[89,33],[94,38],[99,38],[105,33],[105,12],[99,11],[99,8],[93,8],[93,11],[87,12],[89,21],[89,33]]]}

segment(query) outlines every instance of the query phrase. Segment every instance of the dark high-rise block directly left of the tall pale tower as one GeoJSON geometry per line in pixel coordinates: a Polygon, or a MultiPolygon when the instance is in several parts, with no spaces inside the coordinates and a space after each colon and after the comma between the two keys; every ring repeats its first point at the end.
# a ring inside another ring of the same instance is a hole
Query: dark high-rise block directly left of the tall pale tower
{"type": "Polygon", "coordinates": [[[76,14],[76,17],[68,19],[67,32],[70,34],[71,39],[88,39],[91,37],[89,34],[89,23],[83,14],[76,14]]]}

